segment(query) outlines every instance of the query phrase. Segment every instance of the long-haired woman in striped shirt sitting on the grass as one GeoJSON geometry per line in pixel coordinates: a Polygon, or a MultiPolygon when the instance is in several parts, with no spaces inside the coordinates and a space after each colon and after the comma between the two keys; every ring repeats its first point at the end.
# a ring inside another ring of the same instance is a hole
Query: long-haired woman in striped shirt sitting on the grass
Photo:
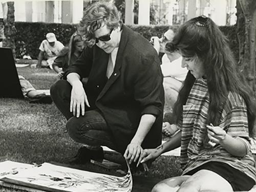
{"type": "Polygon", "coordinates": [[[185,22],[172,42],[189,72],[174,107],[181,130],[140,162],[181,146],[182,176],[152,191],[246,191],[255,185],[250,151],[255,103],[240,79],[226,37],[205,16],[185,22]]]}

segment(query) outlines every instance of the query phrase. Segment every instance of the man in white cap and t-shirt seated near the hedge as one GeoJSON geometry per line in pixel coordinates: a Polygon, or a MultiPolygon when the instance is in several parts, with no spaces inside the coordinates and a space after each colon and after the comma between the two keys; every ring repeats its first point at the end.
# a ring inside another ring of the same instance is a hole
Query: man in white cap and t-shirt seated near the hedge
{"type": "Polygon", "coordinates": [[[40,52],[36,66],[52,68],[54,59],[59,55],[63,47],[64,45],[57,41],[54,33],[47,33],[46,39],[43,40],[39,46],[40,52]]]}

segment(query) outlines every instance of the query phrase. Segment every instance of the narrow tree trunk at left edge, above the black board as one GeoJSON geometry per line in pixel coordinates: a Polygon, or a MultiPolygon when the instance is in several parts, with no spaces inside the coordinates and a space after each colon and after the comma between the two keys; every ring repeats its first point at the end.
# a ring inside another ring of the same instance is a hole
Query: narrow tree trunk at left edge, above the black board
{"type": "Polygon", "coordinates": [[[15,58],[15,34],[16,29],[14,25],[14,2],[3,3],[4,12],[4,39],[3,46],[12,49],[15,58]]]}

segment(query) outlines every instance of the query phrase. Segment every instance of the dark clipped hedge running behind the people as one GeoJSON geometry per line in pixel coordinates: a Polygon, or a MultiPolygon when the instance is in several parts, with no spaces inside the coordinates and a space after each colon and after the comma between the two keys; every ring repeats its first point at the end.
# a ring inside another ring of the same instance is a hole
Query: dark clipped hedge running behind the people
{"type": "MultiPolygon", "coordinates": [[[[152,36],[159,36],[167,31],[169,26],[129,26],[134,31],[140,33],[146,39],[150,39],[152,36]]],[[[179,26],[171,26],[170,28],[177,31],[179,26]]],[[[32,59],[36,59],[39,53],[38,47],[42,40],[45,39],[45,35],[49,32],[55,33],[57,39],[64,45],[67,45],[69,38],[75,32],[76,26],[71,24],[62,23],[43,23],[43,22],[15,22],[15,28],[17,30],[15,45],[16,45],[16,57],[22,58],[24,55],[31,56],[32,59]]],[[[235,26],[221,26],[220,30],[229,39],[229,45],[233,51],[234,56],[238,59],[238,40],[236,35],[235,26]]]]}

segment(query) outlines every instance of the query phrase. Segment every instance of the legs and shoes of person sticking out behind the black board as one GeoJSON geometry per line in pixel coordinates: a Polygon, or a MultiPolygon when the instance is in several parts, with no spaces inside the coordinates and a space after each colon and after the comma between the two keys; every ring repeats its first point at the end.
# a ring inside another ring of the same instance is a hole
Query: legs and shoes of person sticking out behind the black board
{"type": "Polygon", "coordinates": [[[38,90],[36,90],[31,83],[26,80],[23,76],[18,76],[20,86],[22,87],[22,93],[24,97],[31,99],[30,103],[45,103],[51,104],[52,99],[50,95],[46,95],[38,90]]]}

